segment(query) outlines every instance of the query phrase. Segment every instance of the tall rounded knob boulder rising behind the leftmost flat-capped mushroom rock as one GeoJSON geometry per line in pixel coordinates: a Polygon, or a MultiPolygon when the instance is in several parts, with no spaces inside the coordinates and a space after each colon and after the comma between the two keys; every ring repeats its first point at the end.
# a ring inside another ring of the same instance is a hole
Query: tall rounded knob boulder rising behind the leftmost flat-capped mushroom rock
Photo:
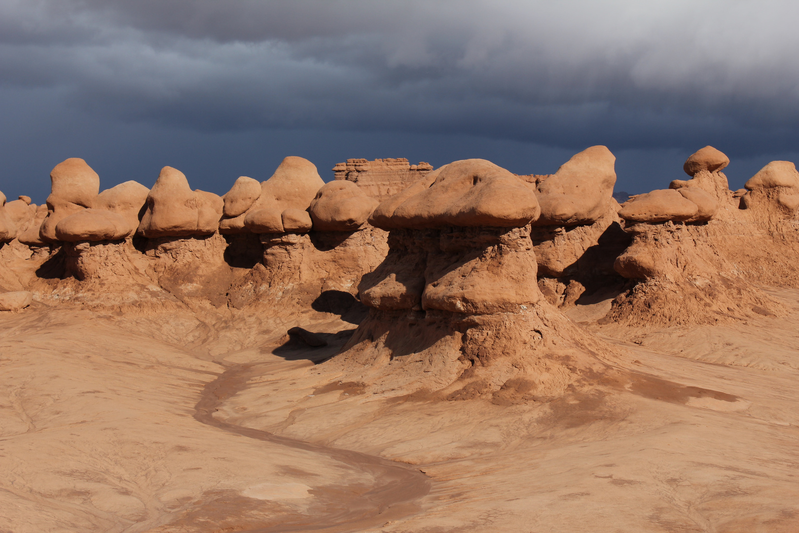
{"type": "Polygon", "coordinates": [[[70,157],[55,166],[50,173],[52,183],[47,197],[47,217],[42,221],[39,236],[42,241],[55,242],[55,227],[62,218],[93,207],[100,192],[100,177],[79,157],[70,157]]]}

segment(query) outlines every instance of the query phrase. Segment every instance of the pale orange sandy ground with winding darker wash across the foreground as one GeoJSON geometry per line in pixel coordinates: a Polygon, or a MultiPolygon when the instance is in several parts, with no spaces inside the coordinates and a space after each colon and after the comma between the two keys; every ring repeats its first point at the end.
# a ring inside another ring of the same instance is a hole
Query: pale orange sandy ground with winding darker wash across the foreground
{"type": "Polygon", "coordinates": [[[573,309],[637,377],[518,405],[366,394],[321,362],[344,336],[209,356],[3,313],[0,531],[799,531],[799,292],[773,295],[792,316],[680,330],[573,309]]]}

